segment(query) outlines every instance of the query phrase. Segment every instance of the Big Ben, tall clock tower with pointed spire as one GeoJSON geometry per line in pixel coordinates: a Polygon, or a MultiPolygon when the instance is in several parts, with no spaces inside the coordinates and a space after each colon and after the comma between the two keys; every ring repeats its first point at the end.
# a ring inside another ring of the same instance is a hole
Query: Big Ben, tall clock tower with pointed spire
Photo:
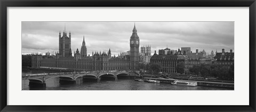
{"type": "Polygon", "coordinates": [[[140,39],[139,36],[137,35],[137,30],[135,27],[134,23],[134,28],[132,30],[132,36],[130,38],[130,60],[131,60],[131,65],[130,69],[131,70],[139,70],[139,46],[140,46],[140,39]]]}

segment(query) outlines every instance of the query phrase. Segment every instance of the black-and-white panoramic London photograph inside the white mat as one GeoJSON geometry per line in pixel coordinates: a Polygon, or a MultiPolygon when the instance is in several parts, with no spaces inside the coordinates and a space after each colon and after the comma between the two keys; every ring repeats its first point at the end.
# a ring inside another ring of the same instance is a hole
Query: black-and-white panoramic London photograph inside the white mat
{"type": "Polygon", "coordinates": [[[22,21],[22,90],[234,90],[234,21],[22,21]]]}

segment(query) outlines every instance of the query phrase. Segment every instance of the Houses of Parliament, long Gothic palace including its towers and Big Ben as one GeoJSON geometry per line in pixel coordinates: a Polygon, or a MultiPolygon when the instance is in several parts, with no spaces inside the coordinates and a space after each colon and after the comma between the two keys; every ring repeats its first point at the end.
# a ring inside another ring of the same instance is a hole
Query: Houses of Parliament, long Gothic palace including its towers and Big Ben
{"type": "Polygon", "coordinates": [[[121,53],[119,56],[111,56],[111,50],[92,52],[92,56],[87,55],[85,40],[83,39],[81,50],[78,48],[71,51],[71,33],[67,35],[66,28],[62,33],[59,32],[59,51],[43,54],[32,54],[31,67],[52,67],[67,68],[77,71],[113,71],[113,70],[139,70],[139,46],[140,39],[134,24],[132,36],[130,37],[130,51],[121,53]]]}

